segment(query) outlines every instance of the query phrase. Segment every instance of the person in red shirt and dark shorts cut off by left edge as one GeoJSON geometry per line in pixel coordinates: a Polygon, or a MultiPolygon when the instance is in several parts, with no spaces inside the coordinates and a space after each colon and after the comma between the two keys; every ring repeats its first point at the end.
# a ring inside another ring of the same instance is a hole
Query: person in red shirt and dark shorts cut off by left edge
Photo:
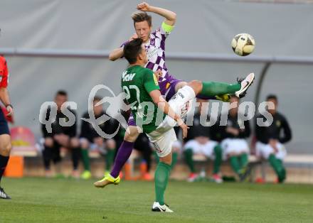
{"type": "MultiPolygon", "coordinates": [[[[6,111],[8,112],[6,115],[11,116],[13,114],[13,107],[11,106],[9,92],[6,88],[8,87],[8,77],[9,71],[6,59],[4,56],[0,55],[0,101],[6,107],[6,111]]],[[[11,148],[12,145],[9,126],[6,118],[4,117],[4,112],[0,109],[0,183],[2,175],[4,175],[4,170],[6,170],[6,165],[9,161],[11,148]]],[[[2,187],[0,187],[0,198],[11,199],[11,197],[4,192],[2,187]]]]}

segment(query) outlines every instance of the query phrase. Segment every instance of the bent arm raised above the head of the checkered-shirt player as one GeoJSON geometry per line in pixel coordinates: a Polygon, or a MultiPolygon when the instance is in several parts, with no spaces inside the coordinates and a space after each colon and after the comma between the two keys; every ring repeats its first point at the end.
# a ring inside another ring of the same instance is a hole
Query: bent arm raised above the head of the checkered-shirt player
{"type": "Polygon", "coordinates": [[[163,16],[165,18],[164,23],[169,26],[174,26],[176,22],[176,13],[173,11],[169,11],[167,9],[155,7],[155,6],[150,6],[146,2],[142,2],[141,4],[137,5],[137,9],[141,11],[150,11],[153,13],[157,13],[160,16],[163,16]]]}

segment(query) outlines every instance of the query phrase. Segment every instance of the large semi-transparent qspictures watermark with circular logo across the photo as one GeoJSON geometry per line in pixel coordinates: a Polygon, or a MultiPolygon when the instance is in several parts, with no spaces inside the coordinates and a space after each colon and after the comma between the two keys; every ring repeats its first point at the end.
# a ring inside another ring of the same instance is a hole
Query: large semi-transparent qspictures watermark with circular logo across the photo
{"type": "MultiPolygon", "coordinates": [[[[93,87],[90,91],[90,94],[88,96],[88,114],[89,119],[80,118],[83,121],[87,121],[90,123],[97,132],[99,136],[102,138],[113,138],[116,136],[118,131],[120,130],[120,126],[122,126],[124,129],[127,129],[127,120],[122,115],[122,112],[127,112],[129,109],[132,109],[132,112],[136,112],[136,124],[139,126],[139,129],[142,129],[142,125],[150,124],[152,121],[154,121],[154,124],[156,126],[159,126],[162,121],[164,121],[164,114],[161,112],[161,109],[158,109],[158,112],[156,114],[156,119],[154,119],[154,113],[147,112],[147,111],[153,111],[154,107],[156,106],[153,102],[138,102],[139,99],[137,99],[136,102],[133,102],[132,104],[125,104],[125,99],[128,99],[129,96],[125,94],[124,92],[115,95],[115,93],[110,89],[110,87],[107,87],[105,85],[96,85],[93,87]],[[102,114],[102,116],[96,118],[95,113],[93,110],[94,107],[94,99],[97,94],[97,92],[100,89],[105,89],[110,94],[112,94],[112,97],[103,97],[100,102],[97,102],[95,106],[99,106],[102,104],[107,104],[107,109],[105,111],[106,114],[102,114]],[[119,126],[116,129],[116,131],[112,134],[107,134],[100,128],[100,124],[104,124],[105,122],[109,121],[111,118],[116,119],[119,122],[119,126]],[[141,127],[141,128],[140,128],[141,127]]],[[[174,95],[175,97],[175,95],[174,95]]],[[[191,107],[191,110],[188,113],[188,116],[186,116],[186,125],[192,126],[193,125],[193,116],[195,114],[196,108],[198,108],[200,103],[196,102],[193,103],[193,106],[191,107]]],[[[158,104],[158,107],[164,107],[164,102],[161,104],[158,104]]],[[[202,126],[213,126],[216,124],[216,121],[218,120],[218,111],[221,108],[221,119],[220,119],[220,126],[226,126],[227,125],[227,119],[228,119],[228,112],[230,109],[238,107],[238,110],[245,111],[245,113],[238,113],[238,124],[240,129],[244,129],[244,121],[249,121],[254,118],[256,114],[256,106],[253,102],[242,102],[238,106],[238,102],[233,103],[220,103],[220,102],[202,102],[201,106],[201,116],[200,116],[200,124],[202,126]],[[209,111],[209,103],[211,103],[211,109],[209,111]],[[208,114],[210,112],[210,114],[208,114]],[[210,117],[209,120],[208,117],[210,117]]],[[[78,105],[75,102],[65,102],[60,107],[60,112],[62,112],[66,118],[60,118],[58,121],[60,126],[73,126],[76,122],[76,117],[70,110],[77,110],[78,105]]],[[[186,110],[186,108],[181,108],[182,110],[186,110]]],[[[270,114],[270,112],[267,112],[267,109],[275,109],[275,104],[272,102],[262,102],[258,106],[258,112],[262,114],[263,118],[257,118],[257,125],[258,126],[270,126],[273,121],[273,117],[270,114]]],[[[41,104],[41,109],[39,112],[39,121],[41,124],[43,124],[46,127],[46,131],[48,133],[52,133],[52,125],[56,121],[58,112],[58,107],[55,104],[55,102],[44,102],[41,104]],[[48,114],[48,108],[50,107],[50,113],[48,114]]]]}

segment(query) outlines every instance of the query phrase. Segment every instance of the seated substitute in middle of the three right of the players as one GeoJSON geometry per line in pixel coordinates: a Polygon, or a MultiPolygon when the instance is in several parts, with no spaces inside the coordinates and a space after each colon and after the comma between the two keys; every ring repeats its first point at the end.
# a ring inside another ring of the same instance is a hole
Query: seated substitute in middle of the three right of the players
{"type": "Polygon", "coordinates": [[[245,138],[251,134],[249,121],[243,121],[238,116],[239,99],[231,97],[230,104],[235,107],[229,110],[226,126],[220,126],[223,141],[223,159],[229,159],[230,165],[240,180],[244,180],[248,166],[248,155],[250,149],[245,138]],[[240,129],[240,124],[244,125],[244,129],[240,129]]]}

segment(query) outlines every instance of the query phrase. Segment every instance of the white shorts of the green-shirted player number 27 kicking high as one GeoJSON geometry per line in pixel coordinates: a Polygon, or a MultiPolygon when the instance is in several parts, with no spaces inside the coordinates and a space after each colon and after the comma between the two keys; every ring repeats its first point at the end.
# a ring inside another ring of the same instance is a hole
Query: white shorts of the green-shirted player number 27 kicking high
{"type": "MultiPolygon", "coordinates": [[[[176,114],[183,114],[186,112],[186,105],[189,105],[194,97],[196,97],[193,89],[189,86],[182,87],[174,96],[169,100],[171,109],[176,114]]],[[[171,153],[173,143],[177,140],[173,127],[176,121],[166,116],[161,124],[154,131],[147,134],[149,140],[154,144],[159,157],[164,157],[171,153]]]]}

